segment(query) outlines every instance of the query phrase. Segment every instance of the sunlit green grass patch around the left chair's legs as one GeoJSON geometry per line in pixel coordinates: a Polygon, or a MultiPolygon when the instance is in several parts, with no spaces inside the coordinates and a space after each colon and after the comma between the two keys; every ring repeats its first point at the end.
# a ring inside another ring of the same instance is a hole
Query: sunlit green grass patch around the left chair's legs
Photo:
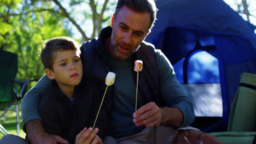
{"type": "MultiPolygon", "coordinates": [[[[4,110],[0,110],[0,115],[2,115],[2,113],[4,112],[4,110]]],[[[3,127],[10,133],[13,135],[17,135],[17,130],[16,130],[16,111],[14,107],[11,107],[10,110],[7,111],[7,113],[5,113],[6,116],[3,116],[2,118],[0,118],[0,123],[3,125],[3,127]]],[[[4,135],[0,132],[0,139],[3,137],[4,135]]],[[[24,131],[22,130],[22,119],[21,119],[21,112],[20,112],[20,133],[19,136],[22,138],[25,138],[26,134],[24,133],[24,131]]]]}

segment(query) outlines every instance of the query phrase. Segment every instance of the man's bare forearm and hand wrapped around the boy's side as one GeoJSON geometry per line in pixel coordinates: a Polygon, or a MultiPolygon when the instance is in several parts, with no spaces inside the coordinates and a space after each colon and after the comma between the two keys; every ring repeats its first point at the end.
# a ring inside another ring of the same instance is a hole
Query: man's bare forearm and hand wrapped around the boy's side
{"type": "Polygon", "coordinates": [[[57,144],[68,143],[67,140],[57,135],[50,135],[44,132],[42,122],[34,120],[26,125],[28,139],[32,144],[57,144]]]}

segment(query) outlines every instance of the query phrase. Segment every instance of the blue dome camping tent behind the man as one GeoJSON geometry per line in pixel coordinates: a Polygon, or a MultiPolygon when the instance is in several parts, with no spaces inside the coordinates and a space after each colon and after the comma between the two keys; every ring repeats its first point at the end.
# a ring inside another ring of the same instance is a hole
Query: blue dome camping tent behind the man
{"type": "Polygon", "coordinates": [[[155,2],[157,20],[146,41],[165,53],[180,83],[220,83],[218,124],[226,127],[240,74],[256,74],[256,27],[222,0],[155,2]]]}

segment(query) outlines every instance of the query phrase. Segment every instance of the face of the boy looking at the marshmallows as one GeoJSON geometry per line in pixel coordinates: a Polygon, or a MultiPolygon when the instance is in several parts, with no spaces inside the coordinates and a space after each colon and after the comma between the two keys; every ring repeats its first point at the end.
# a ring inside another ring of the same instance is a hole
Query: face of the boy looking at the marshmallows
{"type": "Polygon", "coordinates": [[[83,66],[77,50],[57,51],[54,53],[53,70],[46,69],[49,79],[55,80],[60,87],[76,86],[83,76],[83,66]]]}

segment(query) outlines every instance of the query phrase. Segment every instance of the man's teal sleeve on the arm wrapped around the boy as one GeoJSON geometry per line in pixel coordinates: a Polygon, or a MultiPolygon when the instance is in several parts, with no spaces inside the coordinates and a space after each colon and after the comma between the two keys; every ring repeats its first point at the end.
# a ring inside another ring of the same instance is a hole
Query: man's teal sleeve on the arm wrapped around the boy
{"type": "Polygon", "coordinates": [[[22,128],[26,132],[25,126],[28,122],[41,119],[38,106],[40,103],[41,97],[47,91],[50,86],[51,80],[44,75],[34,87],[28,91],[24,98],[21,101],[21,117],[22,117],[22,128]]]}

